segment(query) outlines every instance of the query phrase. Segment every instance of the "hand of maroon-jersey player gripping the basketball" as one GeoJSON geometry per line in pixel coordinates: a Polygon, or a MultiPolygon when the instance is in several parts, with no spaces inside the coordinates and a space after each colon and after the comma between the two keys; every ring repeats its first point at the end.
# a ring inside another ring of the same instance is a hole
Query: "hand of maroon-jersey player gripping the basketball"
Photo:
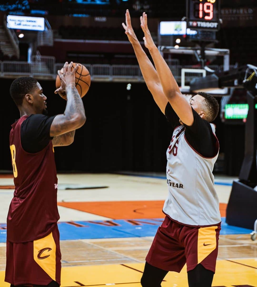
{"type": "Polygon", "coordinates": [[[55,94],[59,94],[63,99],[67,100],[65,89],[70,85],[75,85],[75,73],[79,67],[76,65],[73,70],[72,68],[73,62],[69,63],[65,62],[63,66],[63,74],[60,70],[58,70],[58,75],[61,80],[61,87],[54,91],[55,94]]]}

